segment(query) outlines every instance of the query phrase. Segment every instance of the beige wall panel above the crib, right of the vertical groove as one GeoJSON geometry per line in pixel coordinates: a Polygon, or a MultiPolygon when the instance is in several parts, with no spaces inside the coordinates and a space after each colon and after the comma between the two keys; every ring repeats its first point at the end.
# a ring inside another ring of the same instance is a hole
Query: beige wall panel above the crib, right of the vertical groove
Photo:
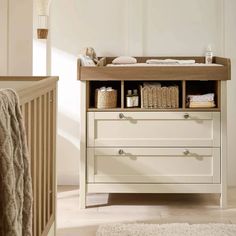
{"type": "Polygon", "coordinates": [[[9,0],[9,75],[32,75],[33,1],[9,0]]]}

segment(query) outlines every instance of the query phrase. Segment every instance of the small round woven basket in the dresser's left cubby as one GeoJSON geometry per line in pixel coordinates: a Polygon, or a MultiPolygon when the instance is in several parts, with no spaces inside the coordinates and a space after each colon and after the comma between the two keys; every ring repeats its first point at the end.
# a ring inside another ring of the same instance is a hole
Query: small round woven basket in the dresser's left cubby
{"type": "Polygon", "coordinates": [[[98,109],[108,109],[117,107],[117,90],[95,91],[95,107],[98,109]]]}

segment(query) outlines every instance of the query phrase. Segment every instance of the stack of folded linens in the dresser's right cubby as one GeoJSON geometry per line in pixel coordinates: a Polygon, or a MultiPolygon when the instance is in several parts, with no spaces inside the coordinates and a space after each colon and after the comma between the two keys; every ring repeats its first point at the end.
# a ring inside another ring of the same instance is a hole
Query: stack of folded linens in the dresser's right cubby
{"type": "Polygon", "coordinates": [[[190,108],[212,108],[215,107],[214,93],[203,95],[188,95],[190,108]]]}

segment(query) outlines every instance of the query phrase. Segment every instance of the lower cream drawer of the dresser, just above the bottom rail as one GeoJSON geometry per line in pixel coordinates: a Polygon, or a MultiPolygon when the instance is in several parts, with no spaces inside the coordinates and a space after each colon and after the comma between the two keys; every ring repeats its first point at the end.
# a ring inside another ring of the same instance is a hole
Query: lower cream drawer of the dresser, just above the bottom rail
{"type": "Polygon", "coordinates": [[[220,183],[220,148],[88,148],[89,183],[220,183]]]}

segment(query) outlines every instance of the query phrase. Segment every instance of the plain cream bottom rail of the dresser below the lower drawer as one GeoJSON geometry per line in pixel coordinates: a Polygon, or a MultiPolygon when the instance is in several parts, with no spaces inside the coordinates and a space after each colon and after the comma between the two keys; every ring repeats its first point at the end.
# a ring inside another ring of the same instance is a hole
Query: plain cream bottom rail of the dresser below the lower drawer
{"type": "Polygon", "coordinates": [[[87,184],[87,193],[221,193],[221,184],[87,184]]]}

